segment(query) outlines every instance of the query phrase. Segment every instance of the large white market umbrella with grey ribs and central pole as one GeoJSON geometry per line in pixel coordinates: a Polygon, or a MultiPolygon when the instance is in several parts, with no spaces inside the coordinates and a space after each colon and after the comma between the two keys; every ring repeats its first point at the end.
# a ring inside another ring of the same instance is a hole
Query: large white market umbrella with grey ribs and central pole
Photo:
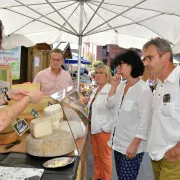
{"type": "Polygon", "coordinates": [[[142,48],[159,36],[176,47],[179,7],[179,0],[6,0],[0,2],[0,19],[8,37],[22,34],[33,43],[78,42],[79,85],[82,42],[142,48]]]}

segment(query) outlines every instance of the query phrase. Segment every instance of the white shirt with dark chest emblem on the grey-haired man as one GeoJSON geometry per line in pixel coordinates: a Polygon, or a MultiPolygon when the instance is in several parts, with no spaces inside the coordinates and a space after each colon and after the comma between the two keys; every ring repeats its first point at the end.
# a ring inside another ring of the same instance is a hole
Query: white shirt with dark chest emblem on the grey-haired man
{"type": "Polygon", "coordinates": [[[158,82],[155,91],[152,129],[148,145],[151,158],[156,161],[161,160],[164,154],[179,141],[180,66],[177,66],[164,83],[158,82]]]}

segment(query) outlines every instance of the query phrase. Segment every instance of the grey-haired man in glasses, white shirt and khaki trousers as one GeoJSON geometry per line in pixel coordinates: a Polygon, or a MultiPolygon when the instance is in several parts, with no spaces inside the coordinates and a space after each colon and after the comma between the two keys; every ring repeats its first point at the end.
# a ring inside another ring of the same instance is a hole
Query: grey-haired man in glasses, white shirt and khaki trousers
{"type": "Polygon", "coordinates": [[[171,45],[162,38],[148,41],[143,56],[147,70],[159,79],[148,143],[155,180],[179,180],[180,66],[174,66],[171,45]]]}

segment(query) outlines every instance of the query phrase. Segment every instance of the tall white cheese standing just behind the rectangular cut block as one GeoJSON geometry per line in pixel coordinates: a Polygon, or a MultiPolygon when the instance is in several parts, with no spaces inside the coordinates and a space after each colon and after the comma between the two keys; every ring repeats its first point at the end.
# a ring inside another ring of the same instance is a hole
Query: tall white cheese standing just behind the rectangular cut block
{"type": "Polygon", "coordinates": [[[60,104],[54,104],[44,109],[45,116],[51,116],[53,129],[59,127],[59,121],[63,118],[63,111],[60,104]]]}

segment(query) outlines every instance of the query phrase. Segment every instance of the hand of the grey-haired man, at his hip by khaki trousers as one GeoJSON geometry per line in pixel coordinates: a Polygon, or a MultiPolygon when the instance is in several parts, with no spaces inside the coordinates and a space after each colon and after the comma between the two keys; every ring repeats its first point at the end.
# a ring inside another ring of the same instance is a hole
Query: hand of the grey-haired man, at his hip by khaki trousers
{"type": "Polygon", "coordinates": [[[169,149],[165,155],[164,158],[167,161],[175,162],[180,160],[180,142],[176,144],[173,148],[169,149]]]}

